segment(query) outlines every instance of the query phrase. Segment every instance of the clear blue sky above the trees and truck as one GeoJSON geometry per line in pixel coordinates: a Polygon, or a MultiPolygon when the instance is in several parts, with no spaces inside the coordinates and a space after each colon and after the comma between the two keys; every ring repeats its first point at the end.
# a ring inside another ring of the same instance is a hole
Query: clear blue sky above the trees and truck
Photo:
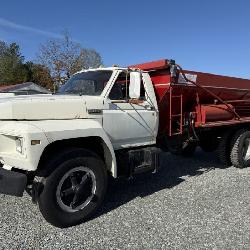
{"type": "Polygon", "coordinates": [[[94,48],[105,66],[175,59],[183,68],[250,79],[248,0],[8,0],[0,40],[17,42],[26,60],[67,30],[94,48]]]}

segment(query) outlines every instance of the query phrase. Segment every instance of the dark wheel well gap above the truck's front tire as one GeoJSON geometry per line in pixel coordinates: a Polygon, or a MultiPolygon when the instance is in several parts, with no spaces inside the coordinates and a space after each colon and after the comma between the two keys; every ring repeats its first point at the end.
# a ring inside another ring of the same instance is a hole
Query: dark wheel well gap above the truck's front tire
{"type": "Polygon", "coordinates": [[[43,151],[38,169],[43,168],[45,163],[54,155],[60,153],[67,148],[85,148],[96,153],[105,162],[104,141],[100,137],[91,136],[83,138],[73,138],[55,141],[49,144],[43,151]]]}

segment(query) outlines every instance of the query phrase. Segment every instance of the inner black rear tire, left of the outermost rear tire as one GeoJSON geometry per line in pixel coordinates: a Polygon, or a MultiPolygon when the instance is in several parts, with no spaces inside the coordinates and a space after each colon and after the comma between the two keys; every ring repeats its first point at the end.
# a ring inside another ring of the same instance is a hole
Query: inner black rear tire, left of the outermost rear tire
{"type": "Polygon", "coordinates": [[[217,156],[220,160],[220,162],[224,166],[231,166],[232,162],[230,159],[230,153],[231,153],[231,137],[232,137],[233,131],[228,130],[226,131],[220,138],[218,147],[216,150],[217,156]]]}

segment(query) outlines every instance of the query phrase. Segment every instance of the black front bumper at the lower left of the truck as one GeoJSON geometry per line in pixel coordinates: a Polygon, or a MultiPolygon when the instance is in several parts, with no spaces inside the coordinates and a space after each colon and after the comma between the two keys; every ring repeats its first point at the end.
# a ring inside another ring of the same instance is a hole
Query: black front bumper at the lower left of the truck
{"type": "Polygon", "coordinates": [[[25,174],[0,167],[0,193],[21,197],[26,184],[27,176],[25,174]]]}

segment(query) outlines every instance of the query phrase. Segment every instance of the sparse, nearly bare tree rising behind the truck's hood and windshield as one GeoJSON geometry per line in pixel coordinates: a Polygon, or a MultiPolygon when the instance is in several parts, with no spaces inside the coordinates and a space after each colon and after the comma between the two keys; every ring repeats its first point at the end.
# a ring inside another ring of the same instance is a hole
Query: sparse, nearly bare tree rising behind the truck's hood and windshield
{"type": "Polygon", "coordinates": [[[75,72],[89,67],[98,67],[102,58],[93,49],[82,48],[67,32],[62,39],[48,40],[40,46],[38,61],[46,65],[53,79],[63,83],[75,72]]]}

